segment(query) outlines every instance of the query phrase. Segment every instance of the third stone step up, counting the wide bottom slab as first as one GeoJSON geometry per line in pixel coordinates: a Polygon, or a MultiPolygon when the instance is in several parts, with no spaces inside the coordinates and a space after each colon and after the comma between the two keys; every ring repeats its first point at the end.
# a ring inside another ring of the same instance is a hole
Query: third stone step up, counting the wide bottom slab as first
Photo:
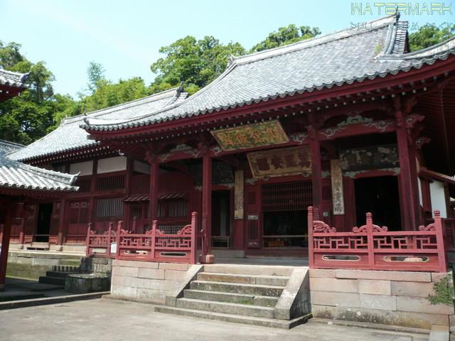
{"type": "Polygon", "coordinates": [[[216,291],[191,290],[183,291],[184,298],[195,298],[197,300],[230,302],[249,305],[260,305],[262,307],[274,307],[277,305],[278,297],[248,295],[241,293],[218,293],[216,291]]]}

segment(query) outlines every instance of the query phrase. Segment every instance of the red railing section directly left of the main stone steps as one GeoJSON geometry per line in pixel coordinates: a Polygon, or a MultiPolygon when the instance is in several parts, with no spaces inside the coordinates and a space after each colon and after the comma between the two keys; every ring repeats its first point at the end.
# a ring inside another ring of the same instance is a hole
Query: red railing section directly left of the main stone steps
{"type": "Polygon", "coordinates": [[[150,231],[144,234],[132,234],[117,229],[116,259],[133,261],[168,261],[196,264],[198,214],[191,214],[191,224],[175,234],[166,234],[159,230],[154,220],[150,231]]]}

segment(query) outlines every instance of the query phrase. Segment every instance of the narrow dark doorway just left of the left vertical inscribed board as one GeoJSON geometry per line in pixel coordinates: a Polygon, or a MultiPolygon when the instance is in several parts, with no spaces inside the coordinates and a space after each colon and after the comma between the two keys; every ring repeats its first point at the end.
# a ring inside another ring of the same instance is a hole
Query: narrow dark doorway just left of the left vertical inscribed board
{"type": "Polygon", "coordinates": [[[230,191],[212,192],[212,247],[230,247],[230,191]]]}

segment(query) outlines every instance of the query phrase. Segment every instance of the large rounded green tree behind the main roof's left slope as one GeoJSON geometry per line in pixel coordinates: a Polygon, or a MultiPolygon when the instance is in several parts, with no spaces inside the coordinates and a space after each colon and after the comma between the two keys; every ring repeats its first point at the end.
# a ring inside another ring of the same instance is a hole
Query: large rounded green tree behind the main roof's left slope
{"type": "Polygon", "coordinates": [[[243,55],[245,48],[240,43],[224,45],[213,36],[196,40],[186,36],[171,45],[160,48],[164,58],[151,64],[156,78],[151,92],[159,92],[186,83],[188,92],[196,92],[220,75],[228,65],[230,55],[243,55]]]}

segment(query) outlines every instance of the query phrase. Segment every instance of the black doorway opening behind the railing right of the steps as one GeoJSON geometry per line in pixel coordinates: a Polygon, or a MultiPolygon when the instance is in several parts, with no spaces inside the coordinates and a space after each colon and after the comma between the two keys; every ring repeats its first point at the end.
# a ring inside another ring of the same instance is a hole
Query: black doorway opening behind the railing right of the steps
{"type": "Polygon", "coordinates": [[[365,224],[365,215],[371,212],[374,224],[387,226],[389,231],[402,229],[396,176],[356,179],[354,185],[357,226],[365,224]]]}

